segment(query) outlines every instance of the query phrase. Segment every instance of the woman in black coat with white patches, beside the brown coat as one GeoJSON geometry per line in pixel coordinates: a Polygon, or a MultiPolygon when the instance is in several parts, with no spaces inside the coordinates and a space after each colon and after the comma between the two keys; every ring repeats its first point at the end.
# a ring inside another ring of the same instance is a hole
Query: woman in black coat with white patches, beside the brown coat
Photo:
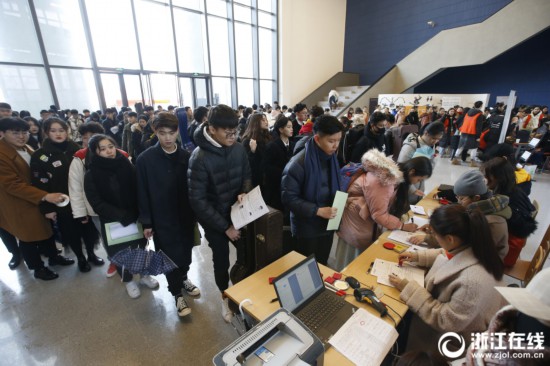
{"type": "MultiPolygon", "coordinates": [[[[69,166],[73,155],[80,146],[69,140],[69,126],[59,118],[48,118],[44,122],[46,139],[42,148],[31,156],[32,184],[46,192],[69,194],[69,166]]],[[[80,135],[79,135],[80,136],[80,135]]],[[[99,235],[93,223],[77,220],[72,215],[71,204],[58,207],[49,202],[40,204],[40,212],[57,223],[64,247],[70,247],[76,255],[80,272],[89,272],[91,262],[102,266],[105,262],[94,253],[94,245],[99,235]],[[86,246],[88,258],[82,251],[82,240],[86,246]]]]}

